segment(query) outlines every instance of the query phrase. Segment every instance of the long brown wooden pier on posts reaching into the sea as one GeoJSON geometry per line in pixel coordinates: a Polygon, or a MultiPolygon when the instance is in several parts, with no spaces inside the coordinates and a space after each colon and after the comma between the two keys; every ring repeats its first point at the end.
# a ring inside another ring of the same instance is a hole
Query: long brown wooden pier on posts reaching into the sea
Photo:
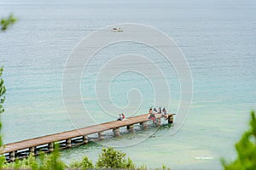
{"type": "MultiPolygon", "coordinates": [[[[168,114],[168,123],[173,122],[173,115],[168,114]]],[[[156,126],[161,125],[160,114],[155,114],[156,126]]],[[[1,149],[1,154],[6,157],[6,161],[15,161],[32,155],[38,155],[40,152],[51,152],[55,148],[55,144],[59,144],[60,149],[67,149],[79,144],[87,144],[90,139],[88,135],[96,135],[96,140],[104,139],[103,133],[108,130],[113,130],[113,136],[120,135],[119,128],[126,127],[130,133],[134,133],[134,125],[139,124],[143,129],[148,128],[148,114],[134,116],[125,119],[124,121],[105,122],[102,124],[79,128],[63,133],[50,134],[34,139],[26,139],[15,143],[5,144],[1,149]]]]}

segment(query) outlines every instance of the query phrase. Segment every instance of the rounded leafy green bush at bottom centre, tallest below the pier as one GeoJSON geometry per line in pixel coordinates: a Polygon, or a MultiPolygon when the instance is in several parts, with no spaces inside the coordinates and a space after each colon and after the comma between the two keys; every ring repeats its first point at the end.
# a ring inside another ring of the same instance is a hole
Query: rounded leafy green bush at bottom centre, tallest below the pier
{"type": "Polygon", "coordinates": [[[125,159],[125,156],[125,153],[114,150],[111,147],[108,149],[102,148],[102,154],[99,155],[96,161],[96,167],[135,169],[135,165],[131,159],[125,159]]]}

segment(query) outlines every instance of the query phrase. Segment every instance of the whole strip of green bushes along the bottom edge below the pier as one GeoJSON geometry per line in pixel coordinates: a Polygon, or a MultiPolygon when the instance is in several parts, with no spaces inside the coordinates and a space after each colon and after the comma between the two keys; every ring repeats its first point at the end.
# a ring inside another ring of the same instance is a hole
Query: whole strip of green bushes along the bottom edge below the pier
{"type": "MultiPolygon", "coordinates": [[[[63,170],[63,169],[137,169],[147,170],[146,165],[136,167],[130,158],[125,158],[125,153],[114,150],[113,148],[103,148],[102,153],[99,155],[96,165],[87,157],[81,161],[72,161],[69,166],[60,160],[60,153],[58,148],[49,155],[40,154],[39,158],[35,156],[28,156],[23,160],[16,160],[15,162],[3,164],[5,169],[31,169],[31,170],[63,170]]],[[[157,170],[170,170],[162,165],[157,170]]]]}

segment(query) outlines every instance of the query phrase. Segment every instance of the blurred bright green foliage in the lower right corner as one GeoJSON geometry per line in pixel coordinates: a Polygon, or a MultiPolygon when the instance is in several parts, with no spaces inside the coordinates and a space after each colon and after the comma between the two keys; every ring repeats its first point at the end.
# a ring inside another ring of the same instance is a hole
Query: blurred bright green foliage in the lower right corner
{"type": "Polygon", "coordinates": [[[254,111],[251,112],[250,128],[241,136],[236,143],[237,158],[227,163],[224,159],[222,164],[225,170],[255,170],[256,169],[256,118],[254,111]]]}

